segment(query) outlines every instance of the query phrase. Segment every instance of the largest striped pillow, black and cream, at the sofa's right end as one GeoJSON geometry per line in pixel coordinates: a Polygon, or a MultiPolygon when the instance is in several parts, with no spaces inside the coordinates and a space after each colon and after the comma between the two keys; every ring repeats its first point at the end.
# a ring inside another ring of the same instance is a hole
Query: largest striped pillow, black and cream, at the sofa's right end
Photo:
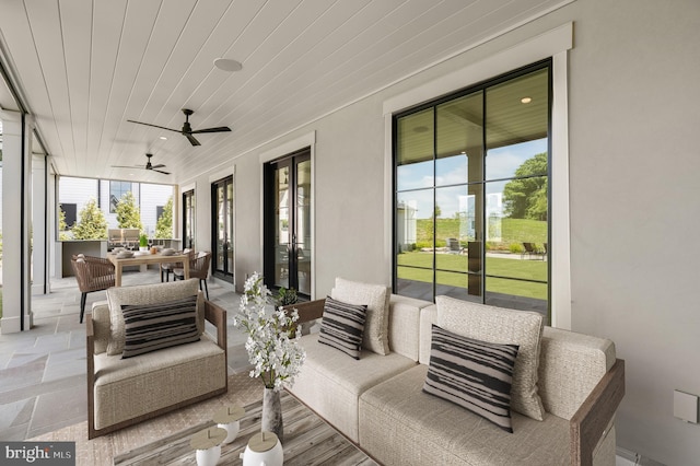
{"type": "Polygon", "coordinates": [[[457,404],[513,433],[511,381],[517,345],[466,338],[432,327],[423,392],[457,404]]]}

